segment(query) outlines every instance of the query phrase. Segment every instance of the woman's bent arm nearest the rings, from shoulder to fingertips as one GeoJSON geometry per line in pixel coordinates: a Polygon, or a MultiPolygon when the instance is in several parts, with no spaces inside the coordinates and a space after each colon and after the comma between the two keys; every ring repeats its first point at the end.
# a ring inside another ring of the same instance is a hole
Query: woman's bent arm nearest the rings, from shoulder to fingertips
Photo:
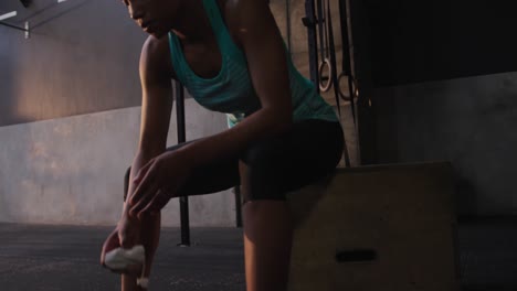
{"type": "MultiPolygon", "coordinates": [[[[293,106],[286,50],[268,4],[266,1],[238,0],[229,6],[231,7],[225,9],[226,23],[230,31],[234,32],[238,45],[245,53],[250,77],[262,107],[231,129],[189,143],[173,152],[166,152],[158,157],[157,161],[150,161],[150,164],[145,166],[136,177],[137,182],[143,182],[131,201],[131,203],[140,202],[138,203],[140,205],[136,207],[137,213],[139,211],[156,212],[167,203],[163,202],[165,198],[157,198],[156,202],[149,203],[150,196],[156,194],[146,192],[156,186],[150,186],[151,182],[148,181],[160,183],[158,180],[162,180],[161,183],[166,183],[165,177],[151,179],[152,175],[163,175],[166,172],[169,176],[186,177],[192,169],[199,165],[208,164],[222,157],[235,157],[253,142],[281,134],[292,126],[293,106]],[[162,160],[161,166],[152,164],[160,162],[160,159],[162,160]],[[167,171],[163,171],[165,169],[167,171]],[[158,174],[158,172],[161,173],[158,174]],[[146,202],[141,203],[141,201],[146,202]],[[144,204],[147,206],[144,207],[144,204]]],[[[170,177],[168,181],[170,183],[170,177]]],[[[176,183],[177,185],[167,187],[168,192],[175,192],[181,181],[176,183]]]]}

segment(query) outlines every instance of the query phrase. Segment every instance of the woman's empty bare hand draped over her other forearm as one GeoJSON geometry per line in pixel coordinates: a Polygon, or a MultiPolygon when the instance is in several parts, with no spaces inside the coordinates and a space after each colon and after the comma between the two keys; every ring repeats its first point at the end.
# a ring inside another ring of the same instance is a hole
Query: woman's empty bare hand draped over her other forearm
{"type": "Polygon", "coordinates": [[[191,164],[184,152],[165,152],[150,160],[135,175],[136,190],[129,198],[129,215],[141,218],[161,211],[176,197],[191,173],[191,164]]]}

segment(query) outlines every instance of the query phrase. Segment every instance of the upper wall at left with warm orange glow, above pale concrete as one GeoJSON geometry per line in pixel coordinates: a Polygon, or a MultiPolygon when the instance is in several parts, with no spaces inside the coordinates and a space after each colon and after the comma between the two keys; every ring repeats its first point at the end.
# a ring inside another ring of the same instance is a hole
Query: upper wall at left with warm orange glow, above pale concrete
{"type": "Polygon", "coordinates": [[[31,37],[0,25],[0,126],[140,104],[138,57],[145,33],[120,1],[1,1],[6,22],[31,25],[31,37]]]}

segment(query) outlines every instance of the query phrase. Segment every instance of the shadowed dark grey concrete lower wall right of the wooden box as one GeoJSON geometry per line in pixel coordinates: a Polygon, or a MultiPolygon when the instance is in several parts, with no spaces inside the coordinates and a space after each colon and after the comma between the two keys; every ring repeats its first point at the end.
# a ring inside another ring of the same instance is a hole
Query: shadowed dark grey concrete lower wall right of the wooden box
{"type": "Polygon", "coordinates": [[[461,215],[517,215],[517,73],[377,89],[379,162],[447,160],[461,215]]]}

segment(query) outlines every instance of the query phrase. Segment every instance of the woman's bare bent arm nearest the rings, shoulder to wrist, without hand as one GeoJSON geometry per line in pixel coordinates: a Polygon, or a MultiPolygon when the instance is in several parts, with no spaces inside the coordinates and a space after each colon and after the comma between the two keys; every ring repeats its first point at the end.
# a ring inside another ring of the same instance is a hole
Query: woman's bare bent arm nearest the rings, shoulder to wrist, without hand
{"type": "Polygon", "coordinates": [[[267,1],[239,0],[226,9],[226,23],[245,53],[261,109],[233,128],[182,148],[193,165],[234,155],[256,140],[279,134],[292,126],[287,56],[267,1]]]}

